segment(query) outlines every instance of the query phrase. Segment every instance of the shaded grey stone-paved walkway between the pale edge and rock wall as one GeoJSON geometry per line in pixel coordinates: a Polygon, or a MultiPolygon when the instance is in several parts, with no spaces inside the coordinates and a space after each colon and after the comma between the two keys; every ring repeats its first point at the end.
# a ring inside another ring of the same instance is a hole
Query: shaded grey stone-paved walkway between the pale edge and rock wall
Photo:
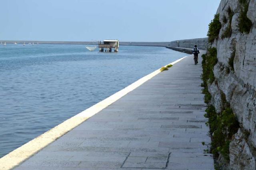
{"type": "Polygon", "coordinates": [[[201,73],[184,58],[14,170],[214,170],[201,73]]]}

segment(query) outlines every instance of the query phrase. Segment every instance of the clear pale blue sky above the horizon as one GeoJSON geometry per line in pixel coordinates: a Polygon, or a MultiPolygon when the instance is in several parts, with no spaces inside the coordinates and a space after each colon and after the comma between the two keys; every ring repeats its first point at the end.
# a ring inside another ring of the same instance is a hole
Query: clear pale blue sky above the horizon
{"type": "Polygon", "coordinates": [[[204,38],[220,0],[0,0],[0,40],[204,38]]]}

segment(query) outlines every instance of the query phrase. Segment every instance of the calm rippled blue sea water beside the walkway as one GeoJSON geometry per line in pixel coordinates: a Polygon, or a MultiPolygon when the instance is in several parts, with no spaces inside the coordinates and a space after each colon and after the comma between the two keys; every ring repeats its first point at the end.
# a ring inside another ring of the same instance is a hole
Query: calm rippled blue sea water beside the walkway
{"type": "Polygon", "coordinates": [[[186,54],[164,47],[0,46],[0,157],[186,54]]]}

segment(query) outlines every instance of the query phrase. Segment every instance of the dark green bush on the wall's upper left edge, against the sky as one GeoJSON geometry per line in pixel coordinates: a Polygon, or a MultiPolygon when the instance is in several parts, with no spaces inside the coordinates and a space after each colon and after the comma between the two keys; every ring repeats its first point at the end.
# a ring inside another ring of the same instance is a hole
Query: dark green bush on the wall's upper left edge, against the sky
{"type": "Polygon", "coordinates": [[[209,24],[209,30],[207,33],[208,36],[208,42],[212,43],[214,42],[215,38],[218,38],[218,35],[220,33],[221,23],[220,23],[220,14],[216,14],[214,16],[214,19],[209,24]]]}

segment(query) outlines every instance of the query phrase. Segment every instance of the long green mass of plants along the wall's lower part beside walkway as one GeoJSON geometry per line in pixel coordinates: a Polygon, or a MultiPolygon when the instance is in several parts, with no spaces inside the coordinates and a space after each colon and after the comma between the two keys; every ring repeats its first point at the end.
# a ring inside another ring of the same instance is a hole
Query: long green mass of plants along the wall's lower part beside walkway
{"type": "MultiPolygon", "coordinates": [[[[208,48],[207,53],[202,55],[203,83],[201,86],[204,87],[202,93],[205,94],[204,100],[208,104],[212,98],[208,91],[208,84],[215,80],[213,68],[217,61],[216,48],[208,48]],[[213,75],[213,78],[211,75],[213,75]]],[[[218,82],[216,84],[218,85],[218,82]]],[[[229,144],[232,136],[238,131],[239,124],[223,92],[221,92],[221,100],[222,112],[217,114],[214,106],[210,104],[205,110],[205,117],[209,119],[207,125],[210,127],[209,133],[212,136],[210,152],[216,158],[221,154],[224,160],[229,162],[229,144]]]]}

